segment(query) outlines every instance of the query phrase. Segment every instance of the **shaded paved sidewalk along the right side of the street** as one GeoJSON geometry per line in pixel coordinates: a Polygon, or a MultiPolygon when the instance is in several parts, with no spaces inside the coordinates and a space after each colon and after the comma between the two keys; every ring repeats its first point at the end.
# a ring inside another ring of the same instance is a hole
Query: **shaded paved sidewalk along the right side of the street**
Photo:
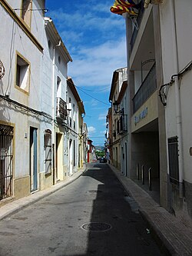
{"type": "Polygon", "coordinates": [[[174,256],[192,255],[192,230],[155,202],[146,191],[130,178],[109,165],[121,181],[127,193],[134,198],[139,211],[148,224],[148,229],[165,251],[174,256]]]}

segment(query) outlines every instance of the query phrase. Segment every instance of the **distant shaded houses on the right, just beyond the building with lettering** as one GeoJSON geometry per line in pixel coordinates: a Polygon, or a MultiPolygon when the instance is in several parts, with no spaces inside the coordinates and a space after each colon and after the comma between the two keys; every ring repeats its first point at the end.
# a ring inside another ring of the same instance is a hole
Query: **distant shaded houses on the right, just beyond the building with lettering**
{"type": "Polygon", "coordinates": [[[121,168],[127,175],[127,68],[114,71],[109,96],[111,101],[111,160],[114,166],[121,168]]]}

